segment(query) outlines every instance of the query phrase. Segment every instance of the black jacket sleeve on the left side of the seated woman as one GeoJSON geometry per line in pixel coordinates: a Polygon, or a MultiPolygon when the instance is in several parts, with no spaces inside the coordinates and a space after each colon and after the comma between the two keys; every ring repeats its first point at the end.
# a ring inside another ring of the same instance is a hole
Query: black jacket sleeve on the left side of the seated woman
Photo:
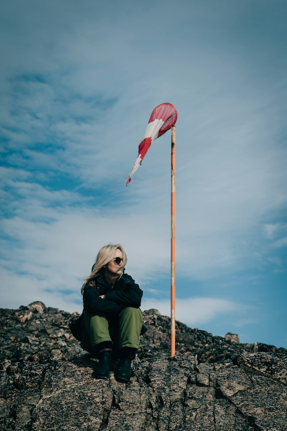
{"type": "Polygon", "coordinates": [[[83,308],[90,314],[120,312],[120,306],[117,303],[100,298],[99,293],[92,286],[86,287],[83,291],[83,308]]]}

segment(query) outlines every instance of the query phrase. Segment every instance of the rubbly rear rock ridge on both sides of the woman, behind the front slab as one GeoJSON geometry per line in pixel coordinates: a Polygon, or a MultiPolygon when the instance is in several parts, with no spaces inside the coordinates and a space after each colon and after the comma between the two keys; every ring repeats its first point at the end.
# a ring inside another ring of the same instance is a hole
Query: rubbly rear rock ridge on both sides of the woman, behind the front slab
{"type": "MultiPolygon", "coordinates": [[[[79,315],[46,307],[40,301],[17,310],[0,309],[0,362],[5,370],[13,362],[37,361],[56,366],[59,361],[84,354],[68,324],[79,315]]],[[[149,362],[170,356],[170,318],[154,309],[143,312],[148,332],[140,337],[138,356],[149,362]]],[[[287,354],[266,344],[240,344],[238,335],[218,337],[176,321],[176,353],[194,356],[198,362],[234,359],[244,352],[287,354]]]]}

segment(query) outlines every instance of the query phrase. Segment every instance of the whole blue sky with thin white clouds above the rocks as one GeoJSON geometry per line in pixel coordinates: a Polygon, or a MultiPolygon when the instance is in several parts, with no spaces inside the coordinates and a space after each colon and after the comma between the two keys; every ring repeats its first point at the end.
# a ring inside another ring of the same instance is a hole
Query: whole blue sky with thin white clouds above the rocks
{"type": "Polygon", "coordinates": [[[287,347],[285,1],[2,1],[1,306],[81,312],[121,243],[142,309],[170,313],[170,133],[124,187],[154,107],[176,106],[176,319],[287,347]]]}

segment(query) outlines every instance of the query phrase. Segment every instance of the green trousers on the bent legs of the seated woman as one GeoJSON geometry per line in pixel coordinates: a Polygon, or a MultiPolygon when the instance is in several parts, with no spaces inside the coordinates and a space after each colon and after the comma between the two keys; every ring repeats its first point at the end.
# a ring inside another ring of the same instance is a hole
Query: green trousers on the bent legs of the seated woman
{"type": "Polygon", "coordinates": [[[81,347],[87,352],[92,353],[93,347],[103,341],[112,341],[111,323],[114,330],[114,339],[119,338],[119,347],[133,347],[138,349],[139,336],[142,330],[142,312],[139,308],[126,307],[118,315],[107,316],[105,314],[89,314],[83,310],[83,333],[81,347]],[[110,324],[110,325],[109,325],[110,324]],[[110,326],[110,330],[109,330],[110,326]]]}

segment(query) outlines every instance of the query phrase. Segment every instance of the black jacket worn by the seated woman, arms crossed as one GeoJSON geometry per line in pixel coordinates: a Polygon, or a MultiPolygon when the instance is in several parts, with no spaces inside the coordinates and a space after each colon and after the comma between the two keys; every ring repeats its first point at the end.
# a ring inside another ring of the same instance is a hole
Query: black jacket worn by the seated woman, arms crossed
{"type": "Polygon", "coordinates": [[[138,308],[141,299],[142,290],[128,274],[123,274],[113,289],[100,275],[96,279],[96,287],[87,286],[83,290],[83,308],[90,314],[118,314],[124,307],[138,308]],[[105,295],[105,299],[100,298],[100,295],[105,295]]]}

